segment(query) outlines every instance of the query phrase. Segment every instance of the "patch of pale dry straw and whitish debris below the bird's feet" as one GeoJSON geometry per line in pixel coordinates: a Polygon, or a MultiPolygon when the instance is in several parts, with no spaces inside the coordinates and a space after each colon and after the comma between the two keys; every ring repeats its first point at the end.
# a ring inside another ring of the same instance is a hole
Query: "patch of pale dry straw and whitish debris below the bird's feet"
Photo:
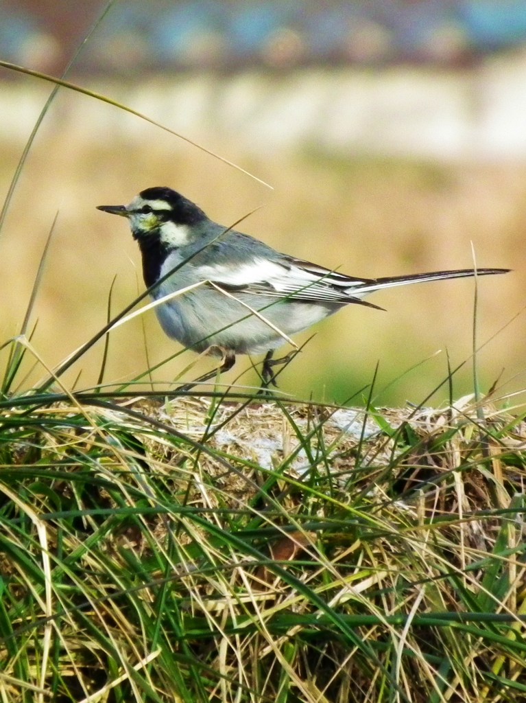
{"type": "Polygon", "coordinates": [[[320,461],[338,473],[350,470],[353,446],[383,437],[375,415],[364,408],[290,404],[284,412],[272,402],[243,405],[227,401],[215,406],[209,399],[192,398],[165,404],[159,415],[179,432],[225,455],[239,456],[247,465],[302,478],[320,468],[320,461]]]}

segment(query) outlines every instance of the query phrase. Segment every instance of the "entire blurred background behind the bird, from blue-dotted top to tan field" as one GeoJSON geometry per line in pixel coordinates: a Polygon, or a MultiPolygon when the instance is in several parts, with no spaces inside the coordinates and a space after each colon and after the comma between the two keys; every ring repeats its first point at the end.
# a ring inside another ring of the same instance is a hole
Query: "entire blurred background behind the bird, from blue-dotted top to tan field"
{"type": "MultiPolygon", "coordinates": [[[[46,364],[105,323],[114,276],[115,312],[143,290],[126,223],[95,207],[166,185],[225,225],[258,208],[239,228],[355,276],[471,267],[473,251],[478,266],[514,269],[478,284],[477,363],[483,392],[522,391],[523,0],[0,0],[0,15],[1,60],[60,76],[87,37],[67,79],[183,137],[58,91],[0,231],[0,345],[20,330],[56,212],[33,316],[46,364]]],[[[53,85],[7,68],[0,81],[5,197],[53,85]]],[[[376,404],[419,403],[449,357],[452,367],[467,360],[454,396],[471,392],[473,300],[469,280],[381,292],[372,302],[386,312],[348,308],[317,325],[280,387],[357,403],[379,363],[376,404]]],[[[154,314],[142,316],[112,333],[105,381],[176,350],[154,314]]],[[[77,387],[93,385],[102,352],[99,343],[69,382],[80,373],[77,387]]],[[[4,349],[2,368],[6,358],[4,349]]],[[[154,378],[171,380],[193,359],[185,352],[154,378]]],[[[29,366],[26,385],[43,375],[29,366]]],[[[246,368],[242,359],[226,378],[246,368]]],[[[442,387],[430,402],[447,396],[442,387]]]]}

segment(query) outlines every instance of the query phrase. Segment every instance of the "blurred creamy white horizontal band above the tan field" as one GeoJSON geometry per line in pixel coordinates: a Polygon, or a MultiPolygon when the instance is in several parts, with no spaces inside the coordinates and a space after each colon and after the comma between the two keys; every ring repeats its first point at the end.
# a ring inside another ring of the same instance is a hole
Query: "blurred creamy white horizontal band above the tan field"
{"type": "MultiPolygon", "coordinates": [[[[158,77],[89,87],[202,141],[247,152],[315,147],[329,153],[497,160],[526,157],[526,53],[473,70],[308,69],[158,77]]],[[[48,94],[29,79],[0,90],[0,141],[23,142],[48,94]]],[[[60,91],[46,122],[96,141],[131,141],[152,127],[116,108],[60,91]]]]}

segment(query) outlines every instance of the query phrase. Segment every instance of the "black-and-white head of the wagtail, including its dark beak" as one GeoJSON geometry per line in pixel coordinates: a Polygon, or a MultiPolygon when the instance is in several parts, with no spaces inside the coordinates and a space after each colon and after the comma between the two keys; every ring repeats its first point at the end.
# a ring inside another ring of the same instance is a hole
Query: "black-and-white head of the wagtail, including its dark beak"
{"type": "Polygon", "coordinates": [[[166,248],[183,247],[192,230],[207,217],[200,207],[171,188],[146,188],[129,205],[98,205],[97,209],[127,217],[133,238],[146,244],[157,240],[166,248]]]}

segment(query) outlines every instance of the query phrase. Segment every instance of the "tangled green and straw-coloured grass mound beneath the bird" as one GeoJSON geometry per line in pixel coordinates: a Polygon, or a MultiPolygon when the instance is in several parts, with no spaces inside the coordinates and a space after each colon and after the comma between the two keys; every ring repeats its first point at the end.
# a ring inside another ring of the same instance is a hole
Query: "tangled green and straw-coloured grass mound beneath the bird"
{"type": "MultiPolygon", "coordinates": [[[[11,699],[524,693],[524,423],[217,397],[0,404],[11,699]]],[[[480,698],[479,698],[480,699],[480,698]]]]}

